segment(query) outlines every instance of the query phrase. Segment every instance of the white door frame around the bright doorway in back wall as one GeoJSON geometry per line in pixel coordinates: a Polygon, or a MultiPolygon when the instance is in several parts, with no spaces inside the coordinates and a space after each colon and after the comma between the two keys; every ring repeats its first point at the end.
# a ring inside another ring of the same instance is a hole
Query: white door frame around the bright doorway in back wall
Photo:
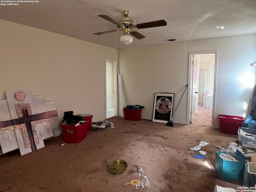
{"type": "Polygon", "coordinates": [[[193,82],[193,65],[192,65],[192,56],[193,55],[202,55],[202,54],[214,54],[215,53],[215,65],[214,65],[214,90],[213,90],[213,104],[212,104],[212,128],[214,128],[214,119],[215,119],[215,95],[216,95],[216,80],[217,80],[217,66],[218,66],[218,50],[211,51],[198,51],[198,52],[189,52],[188,58],[188,113],[187,113],[187,124],[190,124],[191,112],[192,112],[192,82],[193,82]]]}

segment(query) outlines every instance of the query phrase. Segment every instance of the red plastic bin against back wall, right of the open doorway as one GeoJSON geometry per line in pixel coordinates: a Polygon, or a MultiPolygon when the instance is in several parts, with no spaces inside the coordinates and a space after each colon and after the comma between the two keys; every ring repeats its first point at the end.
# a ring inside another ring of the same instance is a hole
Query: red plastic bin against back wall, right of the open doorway
{"type": "Polygon", "coordinates": [[[220,132],[237,135],[239,127],[244,121],[243,117],[232,115],[218,115],[220,120],[220,132]]]}

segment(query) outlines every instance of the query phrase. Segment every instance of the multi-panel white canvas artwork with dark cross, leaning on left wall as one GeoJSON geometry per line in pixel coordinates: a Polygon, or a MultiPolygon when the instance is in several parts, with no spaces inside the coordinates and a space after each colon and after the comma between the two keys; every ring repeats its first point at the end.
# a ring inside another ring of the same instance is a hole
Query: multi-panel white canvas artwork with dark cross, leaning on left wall
{"type": "Polygon", "coordinates": [[[54,101],[31,91],[6,91],[7,100],[0,100],[0,154],[20,149],[24,155],[44,147],[44,140],[61,134],[54,101]]]}

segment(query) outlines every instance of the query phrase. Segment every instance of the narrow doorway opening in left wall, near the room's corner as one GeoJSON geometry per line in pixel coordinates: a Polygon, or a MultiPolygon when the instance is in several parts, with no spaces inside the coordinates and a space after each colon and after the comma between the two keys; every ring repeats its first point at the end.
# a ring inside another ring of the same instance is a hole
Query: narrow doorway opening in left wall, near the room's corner
{"type": "Polygon", "coordinates": [[[106,118],[116,116],[116,61],[105,59],[105,109],[106,118]]]}

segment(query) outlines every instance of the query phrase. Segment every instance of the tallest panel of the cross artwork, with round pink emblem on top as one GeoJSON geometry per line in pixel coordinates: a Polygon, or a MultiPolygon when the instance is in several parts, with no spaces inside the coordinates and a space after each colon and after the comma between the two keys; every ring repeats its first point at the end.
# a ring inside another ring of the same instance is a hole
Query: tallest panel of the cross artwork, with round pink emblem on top
{"type": "Polygon", "coordinates": [[[15,127],[15,133],[20,148],[20,154],[44,147],[42,134],[33,126],[36,124],[36,111],[32,94],[29,89],[5,91],[6,99],[15,127]]]}

